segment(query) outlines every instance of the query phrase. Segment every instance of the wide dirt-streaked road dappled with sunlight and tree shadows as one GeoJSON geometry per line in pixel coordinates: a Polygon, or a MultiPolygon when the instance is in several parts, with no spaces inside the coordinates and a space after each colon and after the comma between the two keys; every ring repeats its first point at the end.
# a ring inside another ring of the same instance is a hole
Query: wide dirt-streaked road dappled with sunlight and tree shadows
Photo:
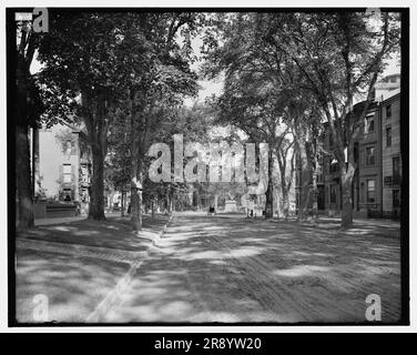
{"type": "Polygon", "coordinates": [[[177,214],[104,322],[383,322],[400,310],[397,239],[177,214]]]}

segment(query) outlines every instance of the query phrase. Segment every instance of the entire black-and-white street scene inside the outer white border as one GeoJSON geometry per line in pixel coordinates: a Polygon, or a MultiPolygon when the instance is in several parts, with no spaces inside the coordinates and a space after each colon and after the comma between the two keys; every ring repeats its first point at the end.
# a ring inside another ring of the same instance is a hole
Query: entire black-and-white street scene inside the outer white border
{"type": "Polygon", "coordinates": [[[8,325],[408,325],[409,8],[365,8],[8,9],[8,325]]]}

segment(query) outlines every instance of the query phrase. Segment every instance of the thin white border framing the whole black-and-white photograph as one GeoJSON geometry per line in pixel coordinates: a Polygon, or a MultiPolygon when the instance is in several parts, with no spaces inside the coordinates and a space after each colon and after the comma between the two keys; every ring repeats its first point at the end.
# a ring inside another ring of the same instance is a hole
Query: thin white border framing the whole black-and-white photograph
{"type": "MultiPolygon", "coordinates": [[[[10,1],[6,0],[1,3],[0,11],[0,23],[2,28],[6,28],[6,8],[7,7],[201,7],[201,8],[242,8],[242,7],[256,7],[256,8],[274,8],[274,7],[292,7],[292,8],[308,8],[308,7],[340,7],[339,1],[299,1],[299,0],[282,0],[282,1],[266,1],[257,0],[256,2],[244,1],[244,0],[217,0],[217,1],[204,1],[202,3],[196,3],[195,1],[169,1],[169,0],[142,0],[142,1],[109,1],[109,0],[93,0],[89,1],[88,6],[85,1],[63,1],[63,0],[43,0],[41,2],[34,1],[10,1]]],[[[386,7],[386,8],[410,8],[410,32],[409,32],[409,42],[410,42],[410,58],[409,58],[409,82],[410,82],[410,111],[409,116],[415,118],[417,110],[417,95],[416,95],[416,84],[417,84],[417,53],[416,53],[416,43],[417,43],[417,4],[411,0],[397,0],[397,1],[363,1],[363,0],[350,0],[348,2],[349,7],[357,8],[376,8],[376,7],[386,7]]],[[[8,264],[7,264],[7,121],[6,121],[6,31],[1,31],[2,36],[0,39],[1,44],[1,59],[0,59],[0,73],[1,73],[1,119],[0,119],[0,332],[8,333],[23,333],[23,332],[38,332],[38,333],[67,333],[67,332],[140,332],[140,333],[288,333],[288,332],[301,332],[301,333],[313,333],[313,332],[362,332],[362,333],[387,333],[387,332],[416,332],[417,329],[417,310],[416,304],[413,303],[413,300],[416,300],[417,288],[416,288],[416,271],[417,262],[413,257],[416,254],[416,242],[414,240],[414,232],[416,231],[416,209],[410,205],[410,225],[409,225],[409,248],[410,248],[410,322],[411,326],[162,326],[162,327],[19,327],[19,328],[9,328],[8,327],[8,264]]],[[[417,156],[417,140],[413,140],[414,134],[417,133],[416,126],[417,120],[410,119],[409,129],[410,129],[410,140],[409,140],[409,172],[410,172],[410,184],[409,184],[409,201],[417,201],[417,171],[416,171],[416,159],[417,156]],[[415,179],[413,179],[415,178],[415,179]]]]}

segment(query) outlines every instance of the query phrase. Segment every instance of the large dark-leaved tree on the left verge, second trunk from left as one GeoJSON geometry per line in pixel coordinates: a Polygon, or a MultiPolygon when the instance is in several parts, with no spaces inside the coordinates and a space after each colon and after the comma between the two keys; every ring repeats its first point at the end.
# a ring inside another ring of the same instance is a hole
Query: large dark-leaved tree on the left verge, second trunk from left
{"type": "Polygon", "coordinates": [[[64,118],[70,111],[81,120],[85,131],[80,136],[91,146],[89,219],[105,219],[103,174],[110,128],[121,116],[129,88],[140,84],[140,73],[152,61],[143,34],[131,34],[130,26],[139,21],[134,13],[50,11],[50,31],[39,49],[43,83],[58,101],[51,113],[64,118]]]}

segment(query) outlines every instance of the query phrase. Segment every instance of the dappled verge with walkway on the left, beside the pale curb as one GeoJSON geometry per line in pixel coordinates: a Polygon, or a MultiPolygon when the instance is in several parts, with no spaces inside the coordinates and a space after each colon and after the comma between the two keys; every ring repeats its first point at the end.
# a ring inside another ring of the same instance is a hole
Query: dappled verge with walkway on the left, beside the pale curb
{"type": "Polygon", "coordinates": [[[94,322],[103,304],[114,302],[110,295],[119,283],[128,284],[126,275],[146,257],[151,239],[169,220],[164,215],[154,220],[144,216],[143,232],[138,236],[131,232],[129,217],[106,217],[105,222],[84,217],[43,220],[41,225],[17,235],[18,322],[37,322],[37,295],[47,297],[50,322],[94,322]]]}

